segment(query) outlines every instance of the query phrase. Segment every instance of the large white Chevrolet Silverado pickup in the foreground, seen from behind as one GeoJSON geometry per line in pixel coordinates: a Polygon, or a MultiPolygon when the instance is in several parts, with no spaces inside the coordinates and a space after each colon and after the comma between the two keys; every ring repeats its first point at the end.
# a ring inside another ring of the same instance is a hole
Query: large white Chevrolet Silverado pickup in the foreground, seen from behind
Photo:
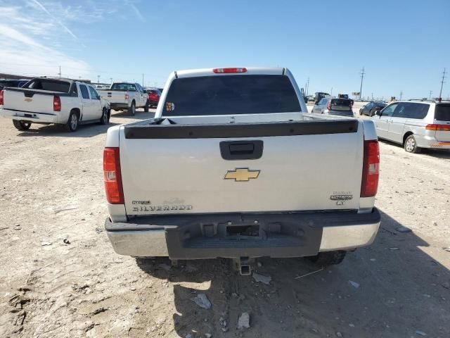
{"type": "Polygon", "coordinates": [[[115,251],[173,261],[309,256],[375,239],[370,120],[307,113],[286,68],[172,73],[155,118],[110,127],[103,156],[115,251]]]}

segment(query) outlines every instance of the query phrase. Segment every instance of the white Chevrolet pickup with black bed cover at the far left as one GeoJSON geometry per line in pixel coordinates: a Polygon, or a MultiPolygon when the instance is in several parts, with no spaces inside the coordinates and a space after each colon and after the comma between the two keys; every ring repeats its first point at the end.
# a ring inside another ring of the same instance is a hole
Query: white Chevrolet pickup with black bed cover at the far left
{"type": "Polygon", "coordinates": [[[12,118],[18,130],[28,130],[32,123],[54,123],[75,132],[81,124],[106,125],[110,120],[108,101],[91,84],[68,79],[37,77],[22,88],[5,87],[0,105],[1,115],[12,118]]]}

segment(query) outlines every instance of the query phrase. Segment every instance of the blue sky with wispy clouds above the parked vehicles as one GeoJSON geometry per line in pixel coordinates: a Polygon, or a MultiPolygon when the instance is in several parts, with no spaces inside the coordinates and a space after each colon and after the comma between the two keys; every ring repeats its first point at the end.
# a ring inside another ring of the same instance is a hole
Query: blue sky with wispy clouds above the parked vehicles
{"type": "MultiPolygon", "coordinates": [[[[419,98],[450,71],[450,1],[0,0],[0,73],[162,86],[172,70],[283,66],[309,92],[419,98]],[[317,2],[317,3],[316,3],[317,2]]],[[[446,79],[442,96],[450,96],[446,79]]]]}

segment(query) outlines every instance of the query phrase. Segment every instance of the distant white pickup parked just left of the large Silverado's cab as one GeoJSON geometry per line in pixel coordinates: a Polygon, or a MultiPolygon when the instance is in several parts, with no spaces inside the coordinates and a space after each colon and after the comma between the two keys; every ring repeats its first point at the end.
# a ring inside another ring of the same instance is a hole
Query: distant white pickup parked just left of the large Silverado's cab
{"type": "Polygon", "coordinates": [[[144,108],[148,112],[148,94],[139,83],[113,82],[109,89],[98,89],[98,93],[110,102],[111,109],[115,111],[126,110],[130,115],[135,115],[136,108],[144,108]]]}

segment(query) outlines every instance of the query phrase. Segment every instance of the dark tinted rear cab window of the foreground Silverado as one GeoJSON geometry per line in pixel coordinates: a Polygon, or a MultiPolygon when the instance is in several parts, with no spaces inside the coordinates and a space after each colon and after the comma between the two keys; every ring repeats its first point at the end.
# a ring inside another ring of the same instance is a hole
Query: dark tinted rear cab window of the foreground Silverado
{"type": "Polygon", "coordinates": [[[215,75],[172,81],[162,115],[238,115],[300,112],[286,75],[215,75]]]}

